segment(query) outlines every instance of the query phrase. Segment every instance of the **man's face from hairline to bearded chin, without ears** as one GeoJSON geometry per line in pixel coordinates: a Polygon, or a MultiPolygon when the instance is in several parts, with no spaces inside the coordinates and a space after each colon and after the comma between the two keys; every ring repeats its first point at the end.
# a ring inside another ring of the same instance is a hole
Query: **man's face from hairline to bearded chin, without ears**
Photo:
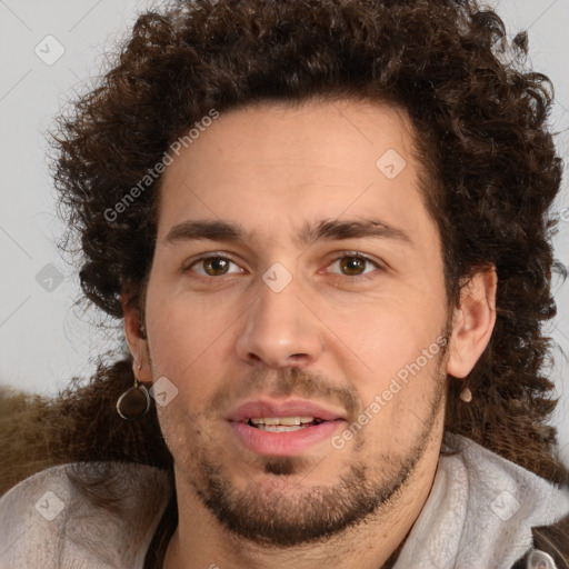
{"type": "Polygon", "coordinates": [[[348,101],[221,114],[163,174],[159,420],[177,485],[233,531],[310,541],[432,477],[449,315],[418,177],[406,117],[348,101]]]}

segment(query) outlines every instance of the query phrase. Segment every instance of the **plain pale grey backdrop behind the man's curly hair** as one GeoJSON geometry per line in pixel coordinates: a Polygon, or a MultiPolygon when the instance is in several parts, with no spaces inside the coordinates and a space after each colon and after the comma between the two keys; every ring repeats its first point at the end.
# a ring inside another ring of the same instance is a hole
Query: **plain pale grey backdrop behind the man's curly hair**
{"type": "MultiPolygon", "coordinates": [[[[159,3],[159,2],[158,2],[159,3]]],[[[107,68],[108,52],[132,27],[142,0],[0,0],[0,383],[57,393],[73,376],[88,377],[97,357],[117,346],[112,328],[93,327],[94,311],[73,308],[80,291],[73,267],[56,242],[63,233],[54,208],[47,131],[58,111],[107,68]]],[[[530,64],[556,88],[551,128],[569,154],[569,0],[491,2],[513,37],[527,30],[530,64]]],[[[556,209],[569,208],[567,174],[556,209]]],[[[556,256],[569,262],[568,221],[559,226],[556,256]]],[[[559,312],[548,325],[558,343],[560,403],[555,423],[569,465],[569,283],[556,280],[559,312]]]]}

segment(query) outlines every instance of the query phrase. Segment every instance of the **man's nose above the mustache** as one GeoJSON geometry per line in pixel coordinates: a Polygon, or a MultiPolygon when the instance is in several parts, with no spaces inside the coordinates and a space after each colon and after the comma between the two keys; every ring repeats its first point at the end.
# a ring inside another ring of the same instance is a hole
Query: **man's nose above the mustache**
{"type": "Polygon", "coordinates": [[[323,325],[298,292],[295,279],[280,292],[260,282],[258,300],[246,312],[237,340],[241,360],[271,368],[303,367],[318,360],[323,325]]]}

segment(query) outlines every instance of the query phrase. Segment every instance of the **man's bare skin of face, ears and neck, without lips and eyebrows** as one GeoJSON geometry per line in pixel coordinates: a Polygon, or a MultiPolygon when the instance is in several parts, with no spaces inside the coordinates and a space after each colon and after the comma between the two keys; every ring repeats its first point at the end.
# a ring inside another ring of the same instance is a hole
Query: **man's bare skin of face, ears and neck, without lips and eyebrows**
{"type": "Polygon", "coordinates": [[[488,345],[497,286],[493,270],[480,272],[463,283],[460,306],[448,308],[412,140],[407,116],[383,104],[267,103],[222,113],[164,172],[146,338],[128,291],[123,298],[137,377],[147,385],[166,377],[178,389],[158,406],[179,508],[167,569],[308,569],[332,560],[338,569],[377,569],[403,543],[436,475],[447,375],[466,377],[488,345]],[[406,160],[393,179],[376,166],[388,149],[406,160]],[[407,238],[298,239],[307,223],[369,219],[407,238]],[[238,223],[244,237],[168,238],[198,220],[238,223]],[[206,253],[231,262],[204,264],[206,253]],[[262,278],[277,262],[292,277],[280,292],[262,278]],[[341,435],[445,331],[447,350],[399,381],[342,448],[327,439],[296,456],[261,456],[226,420],[250,399],[298,397],[341,412],[341,435]],[[207,506],[211,480],[237,523],[250,525],[229,528],[207,506]],[[378,496],[371,511],[358,510],[358,497],[378,496]],[[353,503],[342,509],[341,497],[353,503]],[[346,521],[350,508],[359,518],[346,521]],[[259,529],[267,512],[280,528],[273,536],[259,529]],[[328,535],[298,530],[327,515],[336,516],[328,535]]]}

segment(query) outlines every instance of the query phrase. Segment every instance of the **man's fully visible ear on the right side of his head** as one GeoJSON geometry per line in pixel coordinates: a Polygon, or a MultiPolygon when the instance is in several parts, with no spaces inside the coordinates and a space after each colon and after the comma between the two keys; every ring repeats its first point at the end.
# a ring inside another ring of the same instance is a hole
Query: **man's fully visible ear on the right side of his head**
{"type": "Polygon", "coordinates": [[[485,351],[496,323],[496,268],[477,272],[462,283],[455,309],[447,373],[465,378],[485,351]]]}

